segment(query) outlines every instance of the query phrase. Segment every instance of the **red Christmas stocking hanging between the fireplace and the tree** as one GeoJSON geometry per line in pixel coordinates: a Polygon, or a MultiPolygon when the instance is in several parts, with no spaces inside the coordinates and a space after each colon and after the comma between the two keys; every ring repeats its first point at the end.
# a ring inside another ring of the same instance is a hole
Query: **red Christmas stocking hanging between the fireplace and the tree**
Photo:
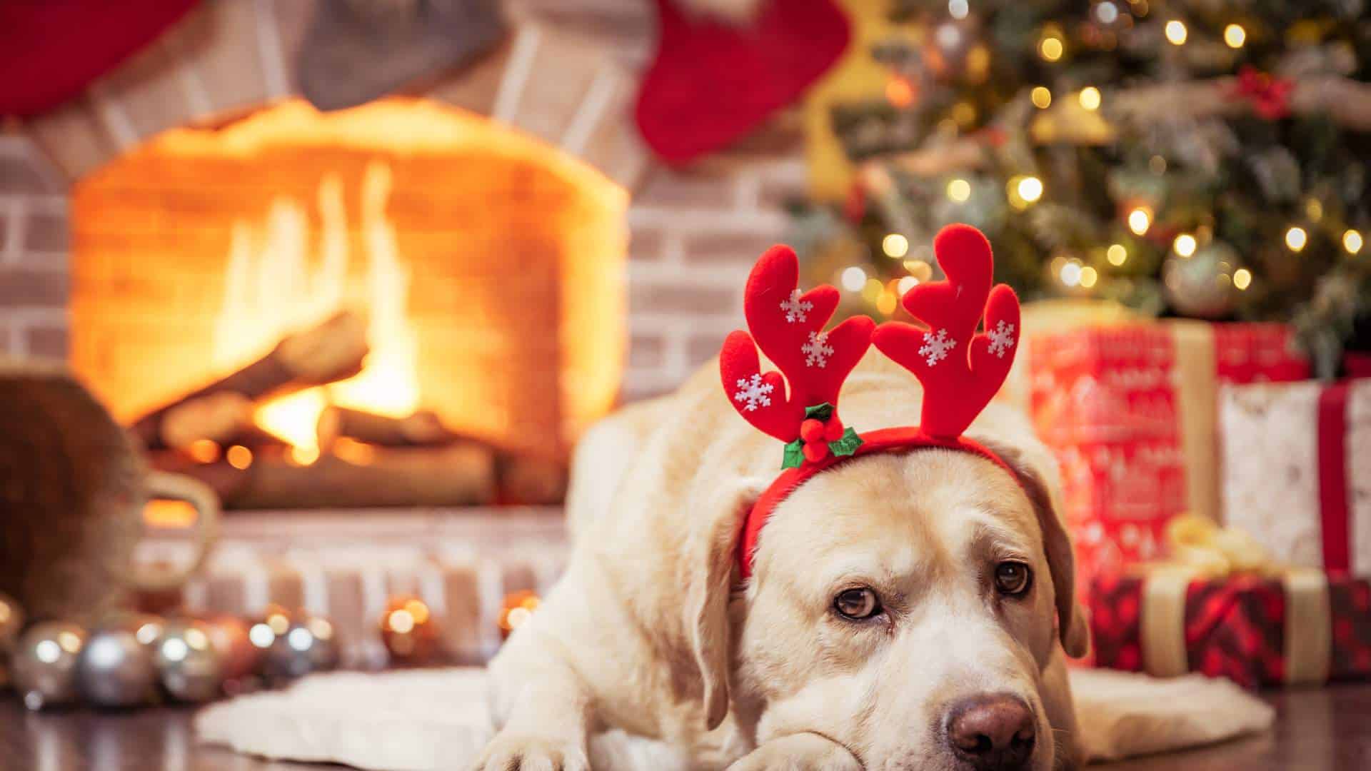
{"type": "Polygon", "coordinates": [[[832,0],[768,0],[746,26],[657,0],[661,40],[638,95],[638,128],[668,163],[718,150],[794,102],[847,48],[832,0]]]}

